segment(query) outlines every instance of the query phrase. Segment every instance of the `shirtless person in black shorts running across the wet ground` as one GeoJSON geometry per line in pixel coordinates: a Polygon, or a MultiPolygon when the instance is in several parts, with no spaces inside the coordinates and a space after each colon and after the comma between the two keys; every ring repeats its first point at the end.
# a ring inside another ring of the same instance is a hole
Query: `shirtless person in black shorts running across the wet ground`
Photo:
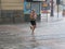
{"type": "Polygon", "coordinates": [[[37,19],[37,14],[34,10],[31,10],[31,13],[30,13],[30,24],[31,24],[30,29],[32,30],[31,34],[34,34],[34,30],[36,28],[36,19],[37,19]]]}

